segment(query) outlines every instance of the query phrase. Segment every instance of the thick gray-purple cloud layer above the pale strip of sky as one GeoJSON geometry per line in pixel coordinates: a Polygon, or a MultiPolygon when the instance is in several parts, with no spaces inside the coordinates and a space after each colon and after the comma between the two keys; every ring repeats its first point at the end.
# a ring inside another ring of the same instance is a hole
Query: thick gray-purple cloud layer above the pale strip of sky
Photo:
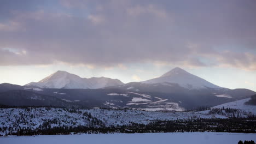
{"type": "Polygon", "coordinates": [[[0,65],[162,62],[256,70],[256,1],[15,2],[6,1],[1,14],[0,65]]]}

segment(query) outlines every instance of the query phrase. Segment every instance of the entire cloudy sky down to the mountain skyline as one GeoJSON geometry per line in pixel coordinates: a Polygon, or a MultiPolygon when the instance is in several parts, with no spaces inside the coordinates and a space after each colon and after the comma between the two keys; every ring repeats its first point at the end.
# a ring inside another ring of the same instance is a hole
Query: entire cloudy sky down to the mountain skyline
{"type": "Polygon", "coordinates": [[[125,83],[174,67],[256,91],[254,0],[2,0],[0,83],[57,70],[125,83]]]}

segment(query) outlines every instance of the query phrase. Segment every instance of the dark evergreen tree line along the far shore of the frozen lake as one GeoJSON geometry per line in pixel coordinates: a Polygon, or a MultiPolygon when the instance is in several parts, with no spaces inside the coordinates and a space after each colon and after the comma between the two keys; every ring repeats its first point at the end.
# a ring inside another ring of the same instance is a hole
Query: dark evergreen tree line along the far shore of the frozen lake
{"type": "Polygon", "coordinates": [[[54,120],[46,121],[36,129],[20,128],[6,135],[59,135],[71,133],[184,133],[184,132],[229,132],[256,133],[256,118],[189,118],[174,121],[154,121],[148,124],[131,123],[129,125],[106,126],[100,120],[92,120],[90,127],[84,125],[51,127],[54,120]],[[94,127],[93,125],[101,125],[94,127]]]}

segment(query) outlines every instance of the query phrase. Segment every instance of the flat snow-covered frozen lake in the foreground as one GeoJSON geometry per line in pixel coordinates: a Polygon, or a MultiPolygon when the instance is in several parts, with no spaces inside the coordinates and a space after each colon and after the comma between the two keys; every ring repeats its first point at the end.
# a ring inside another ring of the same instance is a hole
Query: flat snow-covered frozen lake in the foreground
{"type": "Polygon", "coordinates": [[[241,133],[144,133],[144,134],[81,134],[0,137],[0,143],[225,143],[235,144],[239,140],[254,140],[256,134],[241,133]]]}

